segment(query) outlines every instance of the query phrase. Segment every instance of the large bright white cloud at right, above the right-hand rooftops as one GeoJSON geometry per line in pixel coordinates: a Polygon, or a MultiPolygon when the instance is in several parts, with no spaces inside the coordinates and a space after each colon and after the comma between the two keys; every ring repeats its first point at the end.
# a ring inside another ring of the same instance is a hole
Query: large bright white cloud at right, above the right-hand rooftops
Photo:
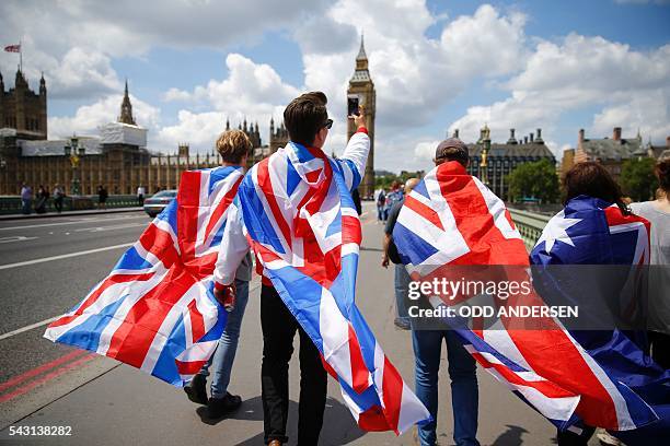
{"type": "Polygon", "coordinates": [[[665,138],[670,103],[669,60],[670,45],[644,52],[602,37],[577,34],[566,36],[559,44],[541,40],[523,71],[506,84],[508,98],[469,107],[450,130],[459,128],[464,139],[473,140],[484,122],[497,134],[505,134],[511,127],[518,129],[518,134],[541,127],[545,140],[565,141],[565,134],[554,133],[562,117],[601,106],[591,129],[593,134],[610,134],[614,126],[639,126],[645,134],[665,138]]]}

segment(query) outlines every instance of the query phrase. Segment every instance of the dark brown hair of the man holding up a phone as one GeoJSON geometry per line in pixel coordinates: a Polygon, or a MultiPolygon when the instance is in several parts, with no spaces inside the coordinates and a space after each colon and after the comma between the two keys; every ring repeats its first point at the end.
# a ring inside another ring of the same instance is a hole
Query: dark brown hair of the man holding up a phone
{"type": "Polygon", "coordinates": [[[284,125],[291,141],[312,145],[319,130],[328,119],[328,99],[322,92],[310,92],[296,97],[284,110],[284,125]]]}

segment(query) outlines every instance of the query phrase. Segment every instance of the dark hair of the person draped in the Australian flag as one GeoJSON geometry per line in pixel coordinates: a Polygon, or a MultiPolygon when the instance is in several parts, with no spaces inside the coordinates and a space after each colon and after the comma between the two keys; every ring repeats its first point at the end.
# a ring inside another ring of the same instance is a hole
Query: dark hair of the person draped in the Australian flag
{"type": "Polygon", "coordinates": [[[624,215],[631,213],[623,201],[623,192],[612,175],[600,163],[588,161],[577,163],[563,178],[565,200],[568,202],[580,195],[616,204],[624,215]]]}

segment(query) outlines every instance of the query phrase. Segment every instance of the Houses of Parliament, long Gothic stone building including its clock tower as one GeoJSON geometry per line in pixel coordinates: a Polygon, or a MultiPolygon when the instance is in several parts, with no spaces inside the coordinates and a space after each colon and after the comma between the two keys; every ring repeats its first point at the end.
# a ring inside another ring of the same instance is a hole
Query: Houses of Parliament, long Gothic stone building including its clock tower
{"type": "MultiPolygon", "coordinates": [[[[374,86],[368,72],[368,60],[362,40],[356,58],[356,70],[349,82],[349,96],[356,95],[366,105],[368,129],[373,140],[374,86]]],[[[14,87],[5,91],[0,73],[0,195],[18,195],[26,184],[36,190],[45,185],[60,185],[67,195],[93,195],[99,185],[111,193],[135,193],[138,186],[147,191],[176,189],[181,174],[187,169],[219,166],[221,160],[213,150],[217,134],[212,134],[212,150],[205,154],[189,153],[187,143],[178,144],[176,153],[150,151],[147,148],[147,129],[132,115],[128,83],[115,121],[99,128],[95,137],[47,139],[47,86],[44,75],[38,92],[31,90],[24,73],[16,71],[14,87]]],[[[349,126],[351,126],[349,124],[349,126]]],[[[221,122],[221,130],[230,129],[230,122],[221,122]]],[[[269,122],[269,141],[263,143],[258,122],[247,124],[246,118],[238,128],[244,131],[253,144],[247,157],[250,167],[269,156],[288,142],[284,122],[269,122]]],[[[349,137],[355,129],[349,129],[349,137]]],[[[373,154],[361,183],[361,196],[371,196],[374,187],[373,154]]]]}

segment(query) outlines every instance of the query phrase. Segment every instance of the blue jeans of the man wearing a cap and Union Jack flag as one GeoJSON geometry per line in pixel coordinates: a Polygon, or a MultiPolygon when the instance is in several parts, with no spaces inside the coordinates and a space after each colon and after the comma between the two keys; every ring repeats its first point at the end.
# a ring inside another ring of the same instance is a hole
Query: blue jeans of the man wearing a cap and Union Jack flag
{"type": "Polygon", "coordinates": [[[476,363],[463,348],[457,332],[451,330],[412,330],[416,396],[426,406],[434,420],[418,426],[420,444],[432,446],[437,441],[435,430],[442,339],[447,342],[449,377],[451,378],[453,439],[457,446],[478,446],[476,435],[480,395],[476,363]]]}

